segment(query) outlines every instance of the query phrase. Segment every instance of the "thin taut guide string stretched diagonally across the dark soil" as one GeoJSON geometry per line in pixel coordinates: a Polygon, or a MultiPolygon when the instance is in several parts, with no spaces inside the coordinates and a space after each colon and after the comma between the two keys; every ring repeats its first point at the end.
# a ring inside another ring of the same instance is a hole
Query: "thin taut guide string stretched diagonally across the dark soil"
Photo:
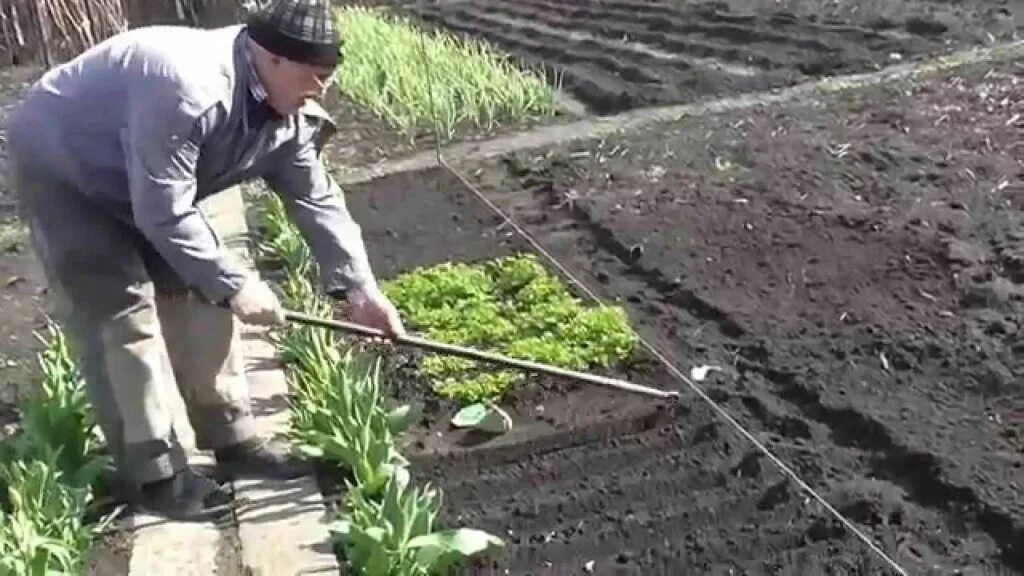
{"type": "MultiPolygon", "coordinates": [[[[423,0],[419,0],[417,4],[422,8],[423,0]]],[[[437,118],[437,107],[435,105],[435,99],[434,99],[433,70],[430,67],[429,59],[427,58],[426,35],[421,35],[420,37],[420,56],[421,59],[423,60],[424,71],[427,73],[426,74],[427,90],[429,92],[431,117],[434,123],[434,152],[437,156],[437,164],[442,168],[444,168],[444,170],[446,170],[453,176],[459,178],[459,180],[466,188],[468,188],[473,193],[473,195],[476,196],[477,199],[480,200],[480,202],[486,205],[496,214],[501,216],[502,219],[505,220],[506,224],[515,230],[516,233],[523,238],[523,240],[528,242],[529,245],[532,246],[534,249],[537,250],[542,256],[544,256],[545,259],[547,259],[552,265],[557,268],[559,272],[561,272],[565,276],[565,278],[567,278],[569,281],[575,284],[581,290],[583,290],[589,298],[591,298],[600,305],[606,305],[604,301],[600,297],[598,297],[598,295],[593,290],[591,290],[586,284],[584,284],[582,280],[578,279],[575,275],[569,272],[566,269],[566,266],[562,265],[562,263],[558,261],[558,259],[555,258],[554,255],[548,252],[538,240],[536,240],[528,232],[523,230],[522,227],[516,223],[516,221],[513,220],[511,216],[506,214],[504,210],[502,210],[494,202],[492,202],[490,199],[488,199],[481,190],[479,190],[476,186],[473,184],[473,182],[469,181],[469,178],[465,177],[461,172],[456,170],[451,164],[444,161],[444,157],[441,154],[440,130],[438,129],[439,121],[437,118]]],[[[871,551],[878,554],[879,558],[881,558],[893,570],[895,570],[898,574],[900,574],[900,576],[907,576],[906,570],[904,570],[895,560],[893,560],[888,553],[886,553],[885,550],[879,547],[878,544],[872,542],[871,539],[866,534],[864,534],[859,528],[857,528],[856,525],[853,524],[853,522],[851,522],[849,519],[843,516],[843,513],[840,512],[838,509],[836,509],[835,506],[829,504],[828,501],[825,500],[824,497],[822,497],[820,494],[818,494],[816,490],[814,490],[809,484],[804,482],[804,480],[801,479],[800,476],[793,470],[793,468],[791,468],[785,462],[781,460],[781,458],[776,456],[771,450],[768,449],[767,446],[765,446],[761,441],[759,441],[742,424],[740,424],[739,421],[737,421],[731,414],[729,414],[729,412],[725,408],[720,406],[710,396],[708,396],[708,394],[699,385],[697,385],[696,382],[694,382],[679,368],[677,368],[675,364],[673,364],[664,354],[660,353],[660,351],[658,351],[653,344],[647,341],[647,339],[644,338],[642,334],[638,333],[637,338],[640,341],[640,343],[643,344],[643,346],[647,349],[647,352],[649,352],[652,356],[654,356],[654,358],[656,358],[659,362],[662,362],[674,376],[676,376],[680,381],[685,383],[694,394],[700,397],[700,399],[703,400],[723,420],[725,420],[729,425],[735,428],[735,430],[739,433],[740,436],[745,438],[769,460],[774,462],[775,465],[778,466],[778,468],[782,470],[783,474],[785,474],[787,477],[790,477],[791,480],[797,483],[798,486],[800,486],[805,492],[807,492],[808,495],[810,495],[819,504],[821,504],[822,507],[828,510],[828,513],[830,513],[836,520],[842,523],[850,532],[852,532],[855,536],[857,536],[857,538],[863,541],[863,543],[871,551]]]]}

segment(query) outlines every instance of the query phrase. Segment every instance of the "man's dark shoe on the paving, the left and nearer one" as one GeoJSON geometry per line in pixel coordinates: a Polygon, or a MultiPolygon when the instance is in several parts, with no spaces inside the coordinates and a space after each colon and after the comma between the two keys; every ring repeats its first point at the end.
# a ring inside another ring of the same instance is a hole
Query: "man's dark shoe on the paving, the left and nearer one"
{"type": "Polygon", "coordinates": [[[137,498],[144,510],[178,522],[220,520],[232,507],[229,492],[191,468],[184,468],[173,478],[142,485],[137,498]]]}

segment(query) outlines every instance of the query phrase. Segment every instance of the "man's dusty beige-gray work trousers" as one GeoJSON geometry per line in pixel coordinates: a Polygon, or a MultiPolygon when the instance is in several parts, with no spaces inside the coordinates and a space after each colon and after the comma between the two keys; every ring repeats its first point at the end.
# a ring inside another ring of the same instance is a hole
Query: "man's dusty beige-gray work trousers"
{"type": "MultiPolygon", "coordinates": [[[[197,448],[249,438],[253,417],[231,312],[188,290],[128,223],[130,216],[119,213],[124,208],[88,200],[38,171],[13,165],[12,175],[122,482],[138,486],[185,465],[167,394],[175,383],[197,448]]],[[[204,213],[214,230],[242,218],[204,213]]],[[[238,242],[228,246],[231,253],[246,259],[244,237],[228,240],[238,242]]]]}

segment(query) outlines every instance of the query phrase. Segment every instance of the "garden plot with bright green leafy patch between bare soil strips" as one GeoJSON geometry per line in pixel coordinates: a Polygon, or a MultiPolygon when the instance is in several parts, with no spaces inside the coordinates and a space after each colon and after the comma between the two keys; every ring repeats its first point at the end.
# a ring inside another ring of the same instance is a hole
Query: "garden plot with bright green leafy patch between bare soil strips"
{"type": "MultiPolygon", "coordinates": [[[[375,270],[387,279],[385,290],[427,337],[675,386],[638,346],[621,306],[599,308],[578,298],[446,172],[353,187],[348,202],[373,247],[375,270]]],[[[399,394],[434,405],[435,418],[409,439],[424,457],[468,449],[524,455],[606,428],[643,427],[666,412],[645,397],[550,376],[526,378],[500,366],[467,369],[459,360],[415,351],[401,351],[392,369],[399,394]],[[451,429],[449,419],[460,407],[487,401],[510,412],[508,434],[451,429]]]]}

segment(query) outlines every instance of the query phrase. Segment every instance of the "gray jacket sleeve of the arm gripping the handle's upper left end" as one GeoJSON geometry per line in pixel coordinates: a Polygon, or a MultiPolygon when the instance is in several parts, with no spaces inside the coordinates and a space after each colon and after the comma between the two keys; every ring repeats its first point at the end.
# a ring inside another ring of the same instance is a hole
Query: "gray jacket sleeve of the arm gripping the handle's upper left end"
{"type": "Polygon", "coordinates": [[[175,90],[145,92],[130,104],[122,134],[135,224],[185,283],[221,302],[246,272],[195,206],[200,148],[219,111],[189,110],[175,90]]]}

